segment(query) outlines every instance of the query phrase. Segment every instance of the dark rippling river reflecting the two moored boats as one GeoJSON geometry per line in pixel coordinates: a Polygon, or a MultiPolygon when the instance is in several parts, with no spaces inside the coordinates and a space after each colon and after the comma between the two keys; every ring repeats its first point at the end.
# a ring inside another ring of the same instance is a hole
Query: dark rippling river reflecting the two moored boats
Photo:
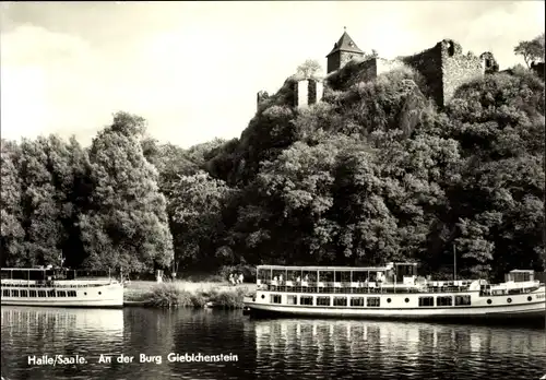
{"type": "Polygon", "coordinates": [[[2,307],[1,314],[9,380],[530,380],[546,373],[541,328],[249,320],[209,309],[2,307]]]}

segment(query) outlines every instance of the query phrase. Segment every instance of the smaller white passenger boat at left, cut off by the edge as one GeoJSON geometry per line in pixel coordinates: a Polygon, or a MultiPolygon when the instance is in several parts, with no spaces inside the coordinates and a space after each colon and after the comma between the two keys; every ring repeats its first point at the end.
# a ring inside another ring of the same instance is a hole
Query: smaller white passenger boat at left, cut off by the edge
{"type": "Polygon", "coordinates": [[[123,307],[123,285],[109,274],[50,268],[2,268],[1,274],[2,306],[123,307]]]}

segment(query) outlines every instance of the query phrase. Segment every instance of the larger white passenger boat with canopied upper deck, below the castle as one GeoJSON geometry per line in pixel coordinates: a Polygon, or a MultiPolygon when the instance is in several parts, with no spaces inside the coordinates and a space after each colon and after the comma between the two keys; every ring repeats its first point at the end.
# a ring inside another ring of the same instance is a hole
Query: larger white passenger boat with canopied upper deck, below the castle
{"type": "Polygon", "coordinates": [[[485,280],[434,281],[416,263],[385,266],[257,268],[256,317],[380,319],[546,319],[546,290],[533,271],[511,271],[500,284],[485,280]]]}

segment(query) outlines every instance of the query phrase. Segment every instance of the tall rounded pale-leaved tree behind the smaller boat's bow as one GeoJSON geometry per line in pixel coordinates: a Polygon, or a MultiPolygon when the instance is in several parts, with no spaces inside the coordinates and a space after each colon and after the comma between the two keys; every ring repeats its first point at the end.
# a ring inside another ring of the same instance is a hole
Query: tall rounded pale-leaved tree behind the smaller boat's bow
{"type": "Polygon", "coordinates": [[[173,260],[165,197],[144,157],[144,120],[118,112],[90,151],[92,207],[80,218],[90,268],[152,272],[173,260]]]}

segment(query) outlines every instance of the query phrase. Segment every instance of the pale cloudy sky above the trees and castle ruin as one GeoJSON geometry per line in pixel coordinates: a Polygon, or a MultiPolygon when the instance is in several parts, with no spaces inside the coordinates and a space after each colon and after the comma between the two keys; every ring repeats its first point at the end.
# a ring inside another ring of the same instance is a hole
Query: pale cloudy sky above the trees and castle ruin
{"type": "Polygon", "coordinates": [[[276,92],[307,59],[323,68],[344,27],[383,58],[452,38],[523,63],[544,1],[0,3],[2,138],[75,135],[84,145],[119,110],[161,142],[240,136],[257,92],[276,92]]]}

